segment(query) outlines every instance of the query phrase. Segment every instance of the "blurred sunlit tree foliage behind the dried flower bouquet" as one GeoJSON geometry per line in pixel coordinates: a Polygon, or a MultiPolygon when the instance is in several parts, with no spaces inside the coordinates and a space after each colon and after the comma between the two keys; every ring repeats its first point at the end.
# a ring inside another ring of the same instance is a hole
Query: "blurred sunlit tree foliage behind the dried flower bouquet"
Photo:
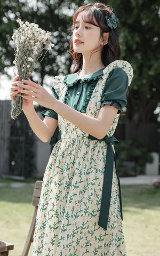
{"type": "Polygon", "coordinates": [[[37,1],[37,4],[33,4],[28,0],[1,1],[1,73],[7,73],[5,67],[10,67],[14,60],[11,37],[13,29],[18,28],[17,18],[38,23],[40,28],[52,32],[51,41],[55,44],[55,47],[52,53],[47,53],[43,61],[37,65],[36,72],[41,77],[38,82],[43,85],[43,79],[46,74],[54,76],[69,73],[71,60],[68,52],[70,39],[68,28],[71,26],[72,15],[76,9],[75,3],[70,4],[70,2],[61,0],[37,1]]]}

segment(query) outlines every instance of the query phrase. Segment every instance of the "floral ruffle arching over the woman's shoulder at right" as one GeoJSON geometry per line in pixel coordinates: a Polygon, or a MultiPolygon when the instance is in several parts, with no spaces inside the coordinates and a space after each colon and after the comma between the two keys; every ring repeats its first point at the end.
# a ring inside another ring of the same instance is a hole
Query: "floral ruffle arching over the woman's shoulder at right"
{"type": "Polygon", "coordinates": [[[103,77],[107,78],[110,71],[115,68],[122,68],[127,77],[129,78],[129,86],[131,84],[132,78],[133,78],[133,68],[131,64],[125,60],[115,60],[111,62],[104,70],[103,70],[103,77]]]}

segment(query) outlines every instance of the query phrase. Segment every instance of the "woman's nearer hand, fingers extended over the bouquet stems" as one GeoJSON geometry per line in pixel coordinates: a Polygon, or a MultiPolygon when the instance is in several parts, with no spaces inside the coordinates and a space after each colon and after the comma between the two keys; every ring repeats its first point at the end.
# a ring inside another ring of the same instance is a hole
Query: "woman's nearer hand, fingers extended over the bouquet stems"
{"type": "Polygon", "coordinates": [[[36,101],[39,105],[46,108],[51,108],[53,106],[54,97],[47,92],[44,87],[31,81],[22,80],[22,82],[17,83],[18,92],[25,95],[21,95],[24,101],[36,101]],[[26,90],[23,90],[26,89],[26,90]]]}

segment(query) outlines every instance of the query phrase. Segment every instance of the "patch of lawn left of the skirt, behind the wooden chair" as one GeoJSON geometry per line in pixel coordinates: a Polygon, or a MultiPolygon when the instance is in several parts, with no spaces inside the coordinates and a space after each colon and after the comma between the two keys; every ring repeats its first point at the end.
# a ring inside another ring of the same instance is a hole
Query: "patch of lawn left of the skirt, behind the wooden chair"
{"type": "Polygon", "coordinates": [[[0,187],[1,239],[14,244],[14,250],[9,255],[21,256],[34,213],[34,206],[31,205],[34,186],[26,183],[22,188],[11,188],[12,182],[0,187]]]}

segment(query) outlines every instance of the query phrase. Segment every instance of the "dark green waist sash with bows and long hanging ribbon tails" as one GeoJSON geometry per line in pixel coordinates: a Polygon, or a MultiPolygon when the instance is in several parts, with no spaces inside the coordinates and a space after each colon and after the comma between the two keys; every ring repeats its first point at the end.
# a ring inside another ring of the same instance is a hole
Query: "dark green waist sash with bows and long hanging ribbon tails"
{"type": "MultiPolygon", "coordinates": [[[[54,146],[55,143],[60,139],[61,139],[61,131],[58,134],[58,138],[54,138],[54,137],[51,138],[50,145],[54,146]]],[[[89,135],[88,139],[99,140],[99,139],[93,137],[92,135],[89,135]]],[[[119,142],[114,136],[108,137],[108,135],[106,135],[103,139],[101,139],[99,141],[105,141],[106,144],[108,145],[107,153],[106,153],[105,174],[104,174],[104,179],[103,179],[101,208],[100,208],[100,215],[99,215],[99,221],[98,221],[98,225],[107,230],[114,162],[115,162],[116,175],[117,175],[118,186],[119,186],[119,201],[120,201],[120,207],[121,207],[121,219],[123,220],[121,186],[120,186],[119,176],[118,176],[118,172],[117,172],[116,156],[115,156],[115,153],[114,153],[114,150],[112,147],[112,145],[116,146],[119,142]]]]}

